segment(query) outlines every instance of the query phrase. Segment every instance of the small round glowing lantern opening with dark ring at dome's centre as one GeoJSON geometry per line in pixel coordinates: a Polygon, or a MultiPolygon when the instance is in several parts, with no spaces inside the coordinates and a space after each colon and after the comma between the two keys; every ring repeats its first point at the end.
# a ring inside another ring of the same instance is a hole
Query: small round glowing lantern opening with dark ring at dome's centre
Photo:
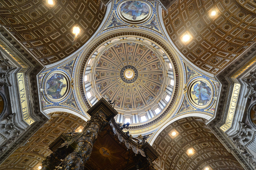
{"type": "Polygon", "coordinates": [[[134,66],[126,65],[121,69],[120,77],[125,83],[133,83],[138,78],[138,71],[134,66]]]}

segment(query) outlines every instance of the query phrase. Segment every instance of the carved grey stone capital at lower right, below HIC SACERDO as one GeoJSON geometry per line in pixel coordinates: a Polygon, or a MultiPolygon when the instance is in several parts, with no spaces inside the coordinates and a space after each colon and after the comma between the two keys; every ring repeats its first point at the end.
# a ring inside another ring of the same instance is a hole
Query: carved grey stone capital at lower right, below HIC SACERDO
{"type": "Polygon", "coordinates": [[[239,130],[236,133],[228,136],[234,143],[236,149],[242,154],[245,159],[256,168],[256,157],[254,157],[250,151],[246,148],[246,145],[252,141],[254,131],[251,130],[247,125],[239,122],[239,130]]]}

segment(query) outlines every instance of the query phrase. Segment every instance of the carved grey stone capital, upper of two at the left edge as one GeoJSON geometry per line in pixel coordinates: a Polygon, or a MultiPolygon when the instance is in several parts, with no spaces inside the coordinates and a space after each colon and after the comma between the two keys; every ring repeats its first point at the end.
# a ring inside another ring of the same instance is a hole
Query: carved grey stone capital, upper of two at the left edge
{"type": "Polygon", "coordinates": [[[9,64],[9,60],[4,59],[0,51],[0,89],[4,86],[11,86],[9,77],[10,72],[14,69],[16,69],[16,67],[9,64]]]}

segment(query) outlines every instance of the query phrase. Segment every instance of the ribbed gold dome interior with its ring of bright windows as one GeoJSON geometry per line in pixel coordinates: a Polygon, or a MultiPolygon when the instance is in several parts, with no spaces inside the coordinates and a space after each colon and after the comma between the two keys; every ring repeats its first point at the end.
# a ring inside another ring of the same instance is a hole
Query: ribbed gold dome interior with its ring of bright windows
{"type": "Polygon", "coordinates": [[[123,115],[117,122],[139,123],[159,115],[174,89],[172,63],[164,51],[150,42],[133,41],[99,47],[88,61],[90,73],[85,71],[89,103],[102,97],[115,100],[115,109],[123,115]]]}

